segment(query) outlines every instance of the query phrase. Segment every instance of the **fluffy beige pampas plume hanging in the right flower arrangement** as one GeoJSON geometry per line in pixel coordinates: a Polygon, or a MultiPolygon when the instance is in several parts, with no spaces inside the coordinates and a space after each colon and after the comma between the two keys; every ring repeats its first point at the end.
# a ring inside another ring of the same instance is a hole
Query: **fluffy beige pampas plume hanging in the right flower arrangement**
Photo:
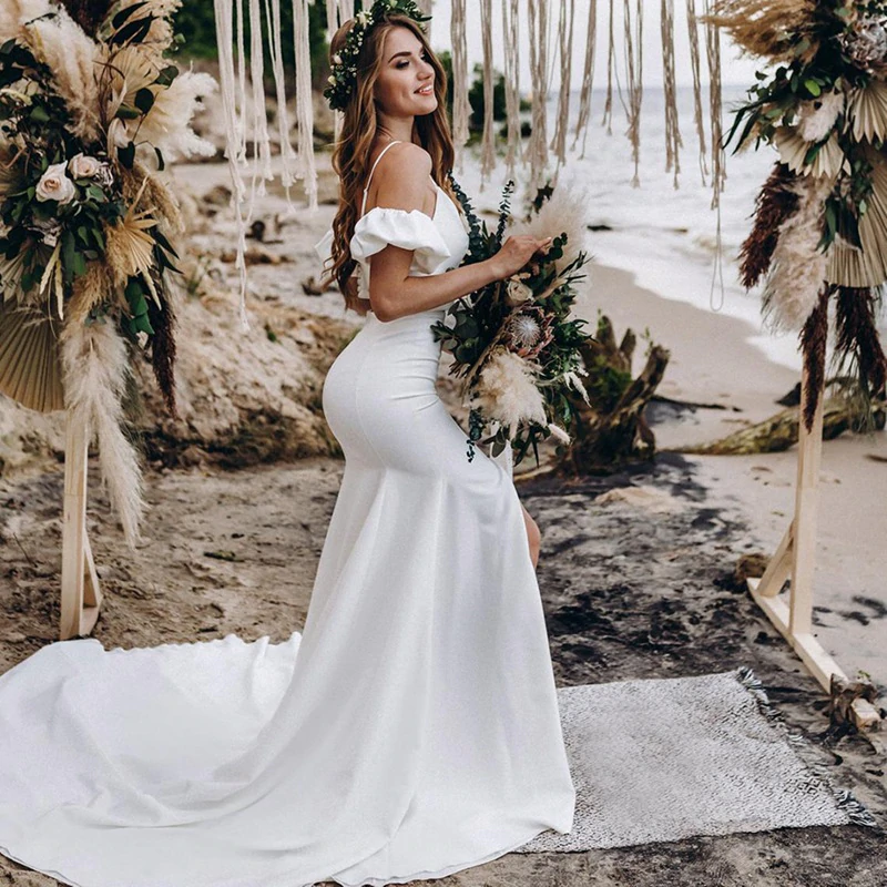
{"type": "Polygon", "coordinates": [[[774,329],[799,330],[816,307],[825,281],[827,258],[817,245],[823,204],[832,185],[826,179],[805,176],[789,187],[798,205],[779,226],[764,288],[764,315],[774,329]]]}

